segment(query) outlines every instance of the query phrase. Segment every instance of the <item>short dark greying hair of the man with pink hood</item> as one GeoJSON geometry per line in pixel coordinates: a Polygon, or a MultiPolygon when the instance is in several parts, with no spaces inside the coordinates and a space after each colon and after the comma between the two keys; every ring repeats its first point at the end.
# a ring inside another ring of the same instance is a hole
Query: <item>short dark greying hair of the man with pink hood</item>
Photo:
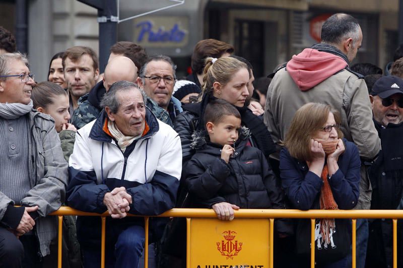
{"type": "Polygon", "coordinates": [[[339,45],[343,40],[353,39],[353,46],[360,36],[360,25],[357,19],[345,13],[330,16],[322,26],[320,38],[323,43],[339,45]]]}

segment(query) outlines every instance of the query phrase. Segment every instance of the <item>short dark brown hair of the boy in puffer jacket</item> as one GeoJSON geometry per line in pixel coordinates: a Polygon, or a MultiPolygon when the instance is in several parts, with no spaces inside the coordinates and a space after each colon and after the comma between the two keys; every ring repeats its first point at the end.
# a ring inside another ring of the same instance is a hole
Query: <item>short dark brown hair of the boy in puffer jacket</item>
{"type": "Polygon", "coordinates": [[[220,99],[214,100],[206,106],[204,122],[218,124],[222,122],[225,116],[230,115],[241,119],[241,114],[232,104],[220,99]]]}

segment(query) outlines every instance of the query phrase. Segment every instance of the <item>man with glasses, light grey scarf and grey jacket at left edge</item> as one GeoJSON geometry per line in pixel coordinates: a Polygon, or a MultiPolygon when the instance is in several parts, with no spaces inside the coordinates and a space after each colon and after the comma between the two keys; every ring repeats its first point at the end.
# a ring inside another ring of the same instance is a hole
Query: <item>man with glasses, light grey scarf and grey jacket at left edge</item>
{"type": "Polygon", "coordinates": [[[0,266],[38,267],[57,234],[68,164],[54,120],[33,110],[27,58],[0,55],[0,266]],[[15,207],[19,206],[19,207],[15,207]]]}

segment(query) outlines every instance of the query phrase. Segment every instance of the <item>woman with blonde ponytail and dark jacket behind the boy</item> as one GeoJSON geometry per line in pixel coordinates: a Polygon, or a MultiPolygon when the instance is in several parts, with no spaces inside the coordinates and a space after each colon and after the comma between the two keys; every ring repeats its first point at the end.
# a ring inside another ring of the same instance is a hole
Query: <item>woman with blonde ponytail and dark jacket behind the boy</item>
{"type": "Polygon", "coordinates": [[[232,104],[241,114],[241,124],[249,128],[249,145],[260,149],[265,157],[276,151],[272,137],[263,121],[246,106],[249,96],[249,72],[245,63],[233,57],[206,58],[203,91],[198,103],[183,107],[184,112],[176,117],[174,129],[182,142],[183,163],[191,158],[194,150],[190,148],[192,133],[204,130],[204,111],[208,103],[221,99],[232,104]]]}

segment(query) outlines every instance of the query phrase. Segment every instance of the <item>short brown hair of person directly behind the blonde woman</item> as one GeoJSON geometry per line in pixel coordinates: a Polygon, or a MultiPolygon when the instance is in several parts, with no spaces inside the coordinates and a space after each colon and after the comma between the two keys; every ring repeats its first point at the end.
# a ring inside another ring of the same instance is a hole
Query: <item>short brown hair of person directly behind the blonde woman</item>
{"type": "Polygon", "coordinates": [[[192,71],[196,74],[201,74],[207,57],[219,58],[224,53],[234,53],[234,47],[216,39],[198,41],[191,57],[192,71]]]}

